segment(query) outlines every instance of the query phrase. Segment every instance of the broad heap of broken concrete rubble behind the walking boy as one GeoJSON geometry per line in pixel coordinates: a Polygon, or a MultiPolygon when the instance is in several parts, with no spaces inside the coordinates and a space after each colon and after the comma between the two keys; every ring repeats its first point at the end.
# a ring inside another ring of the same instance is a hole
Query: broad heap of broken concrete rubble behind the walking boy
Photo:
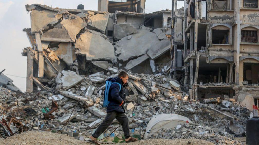
{"type": "MultiPolygon", "coordinates": [[[[56,87],[52,92],[16,93],[1,87],[1,109],[5,112],[2,118],[24,119],[26,130],[53,132],[57,132],[69,119],[59,133],[86,140],[106,116],[106,110],[102,108],[105,80],[115,77],[119,71],[115,67],[110,67],[103,72],[80,76],[73,71],[63,70],[53,81],[52,85],[56,87]]],[[[244,135],[245,120],[249,117],[249,111],[231,98],[215,98],[216,102],[215,99],[207,99],[204,102],[190,101],[188,94],[181,91],[182,86],[178,82],[160,74],[129,72],[128,83],[124,104],[126,115],[130,122],[138,120],[130,124],[132,134],[142,136],[153,115],[178,114],[189,118],[191,123],[177,129],[161,129],[158,134],[162,136],[152,135],[149,138],[195,137],[213,143],[232,144],[237,143],[232,140],[233,135],[244,135]]],[[[12,126],[12,123],[9,126],[12,126]]],[[[110,135],[117,126],[119,123],[114,120],[100,139],[110,135]]],[[[20,129],[12,126],[12,132],[20,129]]],[[[11,134],[5,127],[1,130],[5,132],[1,134],[2,137],[11,134]]],[[[119,127],[111,136],[121,134],[123,131],[119,127]]]]}

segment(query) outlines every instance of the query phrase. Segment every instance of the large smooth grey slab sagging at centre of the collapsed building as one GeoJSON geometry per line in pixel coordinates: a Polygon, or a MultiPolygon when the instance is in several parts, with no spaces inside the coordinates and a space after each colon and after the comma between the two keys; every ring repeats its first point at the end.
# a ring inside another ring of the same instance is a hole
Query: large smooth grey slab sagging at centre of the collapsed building
{"type": "Polygon", "coordinates": [[[152,45],[159,42],[155,33],[145,29],[140,29],[131,36],[130,40],[124,37],[116,43],[116,53],[120,54],[119,60],[127,61],[130,58],[146,54],[152,45]]]}

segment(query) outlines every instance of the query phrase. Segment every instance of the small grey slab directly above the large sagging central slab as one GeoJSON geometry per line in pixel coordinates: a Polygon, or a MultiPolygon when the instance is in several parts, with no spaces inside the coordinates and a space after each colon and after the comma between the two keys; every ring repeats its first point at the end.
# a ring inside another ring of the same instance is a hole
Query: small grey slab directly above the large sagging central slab
{"type": "Polygon", "coordinates": [[[117,40],[122,39],[125,36],[136,33],[137,29],[134,28],[130,23],[121,23],[114,25],[113,37],[117,40]]]}

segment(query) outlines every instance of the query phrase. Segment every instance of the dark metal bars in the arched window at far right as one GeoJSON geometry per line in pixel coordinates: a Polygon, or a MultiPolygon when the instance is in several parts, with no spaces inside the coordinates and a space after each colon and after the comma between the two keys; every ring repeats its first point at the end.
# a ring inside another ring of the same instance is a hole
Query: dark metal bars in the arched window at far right
{"type": "Polygon", "coordinates": [[[241,42],[257,43],[257,31],[242,30],[241,31],[241,42]]]}

